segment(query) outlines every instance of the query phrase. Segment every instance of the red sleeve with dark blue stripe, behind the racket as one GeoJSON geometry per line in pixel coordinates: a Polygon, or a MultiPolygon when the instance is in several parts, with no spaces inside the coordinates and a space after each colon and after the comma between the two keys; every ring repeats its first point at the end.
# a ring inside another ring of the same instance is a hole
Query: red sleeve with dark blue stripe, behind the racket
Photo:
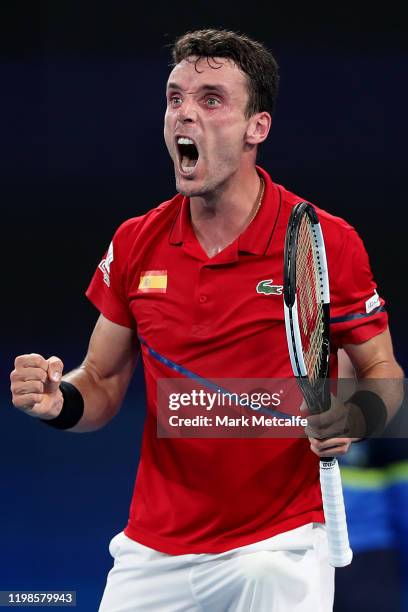
{"type": "Polygon", "coordinates": [[[361,344],[388,325],[384,300],[377,293],[363,242],[350,228],[341,252],[330,261],[330,336],[332,345],[361,344]]]}

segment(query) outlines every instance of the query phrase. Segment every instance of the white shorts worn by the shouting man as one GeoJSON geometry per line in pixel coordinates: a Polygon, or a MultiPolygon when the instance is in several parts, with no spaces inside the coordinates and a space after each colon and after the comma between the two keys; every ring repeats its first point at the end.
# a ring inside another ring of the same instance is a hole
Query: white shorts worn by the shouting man
{"type": "Polygon", "coordinates": [[[220,554],[167,555],[116,535],[99,612],[331,612],[325,528],[297,529],[220,554]]]}

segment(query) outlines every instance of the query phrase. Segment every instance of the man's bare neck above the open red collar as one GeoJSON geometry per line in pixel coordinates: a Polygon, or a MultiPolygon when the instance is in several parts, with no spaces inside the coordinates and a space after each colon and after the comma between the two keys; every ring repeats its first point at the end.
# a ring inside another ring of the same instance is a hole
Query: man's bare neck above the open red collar
{"type": "Polygon", "coordinates": [[[256,169],[247,180],[229,183],[210,197],[192,197],[191,221],[202,248],[214,257],[233,242],[256,216],[264,181],[256,169]]]}

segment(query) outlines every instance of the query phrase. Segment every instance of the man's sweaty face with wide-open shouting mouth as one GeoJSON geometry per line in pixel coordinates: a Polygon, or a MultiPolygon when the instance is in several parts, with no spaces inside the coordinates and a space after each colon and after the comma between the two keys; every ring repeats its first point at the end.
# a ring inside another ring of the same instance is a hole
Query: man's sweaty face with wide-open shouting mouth
{"type": "Polygon", "coordinates": [[[180,193],[214,193],[239,170],[247,101],[246,77],[229,60],[189,58],[175,66],[167,83],[164,138],[180,193]]]}

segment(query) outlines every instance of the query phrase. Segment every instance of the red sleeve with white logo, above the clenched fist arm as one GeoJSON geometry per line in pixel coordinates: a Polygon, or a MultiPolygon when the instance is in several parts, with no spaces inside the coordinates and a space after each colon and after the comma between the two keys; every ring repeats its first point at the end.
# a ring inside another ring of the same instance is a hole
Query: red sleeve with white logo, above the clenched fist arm
{"type": "Polygon", "coordinates": [[[87,298],[110,321],[135,327],[126,292],[127,256],[129,252],[123,224],[115,233],[85,293],[87,298]]]}

